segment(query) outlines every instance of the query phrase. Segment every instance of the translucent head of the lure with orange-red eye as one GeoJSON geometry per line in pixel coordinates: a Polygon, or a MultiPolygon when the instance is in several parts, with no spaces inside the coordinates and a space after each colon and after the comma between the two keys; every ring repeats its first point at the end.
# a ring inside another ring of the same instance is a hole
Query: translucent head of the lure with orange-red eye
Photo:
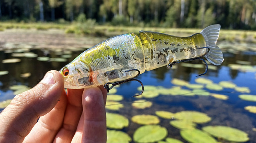
{"type": "Polygon", "coordinates": [[[83,62],[72,62],[64,66],[59,72],[64,78],[64,88],[81,89],[91,84],[89,68],[83,62]]]}

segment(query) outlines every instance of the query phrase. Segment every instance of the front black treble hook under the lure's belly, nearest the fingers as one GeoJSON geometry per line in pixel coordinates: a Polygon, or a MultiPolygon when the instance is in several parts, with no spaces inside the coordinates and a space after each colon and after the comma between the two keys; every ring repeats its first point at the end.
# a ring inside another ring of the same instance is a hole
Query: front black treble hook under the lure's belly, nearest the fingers
{"type": "Polygon", "coordinates": [[[140,94],[134,95],[134,96],[132,96],[132,97],[136,97],[136,96],[142,95],[142,93],[144,92],[144,85],[143,85],[143,83],[142,83],[140,80],[135,79],[136,77],[139,76],[140,71],[139,71],[138,69],[130,69],[130,70],[127,70],[127,71],[124,71],[124,72],[129,72],[129,71],[137,71],[138,74],[137,74],[136,76],[134,76],[133,78],[129,78],[129,79],[127,79],[127,80],[118,81],[118,82],[108,82],[108,83],[106,83],[106,84],[104,85],[104,88],[107,90],[107,92],[109,92],[109,90],[111,90],[114,86],[117,86],[117,85],[120,85],[120,84],[129,82],[129,81],[137,81],[137,82],[139,82],[139,83],[141,84],[141,86],[142,86],[142,91],[141,91],[140,94]],[[112,85],[112,86],[109,87],[109,85],[112,85]]]}

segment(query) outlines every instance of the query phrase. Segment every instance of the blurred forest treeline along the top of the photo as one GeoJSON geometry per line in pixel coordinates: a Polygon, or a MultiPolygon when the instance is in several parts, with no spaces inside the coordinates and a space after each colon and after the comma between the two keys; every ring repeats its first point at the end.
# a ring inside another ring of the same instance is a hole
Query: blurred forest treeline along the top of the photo
{"type": "Polygon", "coordinates": [[[256,30],[256,0],[0,0],[0,21],[256,30]]]}

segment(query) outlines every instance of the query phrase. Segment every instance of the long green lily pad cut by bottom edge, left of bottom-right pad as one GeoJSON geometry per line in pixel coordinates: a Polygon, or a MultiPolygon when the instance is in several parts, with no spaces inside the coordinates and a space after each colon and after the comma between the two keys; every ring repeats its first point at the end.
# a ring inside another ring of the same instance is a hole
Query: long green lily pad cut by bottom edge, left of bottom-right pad
{"type": "Polygon", "coordinates": [[[198,129],[181,130],[180,134],[189,143],[218,143],[212,136],[198,129]]]}

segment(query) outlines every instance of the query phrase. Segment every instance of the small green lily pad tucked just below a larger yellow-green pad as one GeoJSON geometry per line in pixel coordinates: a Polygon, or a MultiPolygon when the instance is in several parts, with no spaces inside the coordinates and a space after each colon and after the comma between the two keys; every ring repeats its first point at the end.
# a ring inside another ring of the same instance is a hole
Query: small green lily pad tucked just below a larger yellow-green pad
{"type": "Polygon", "coordinates": [[[188,120],[173,120],[170,124],[177,129],[194,129],[196,124],[188,120]]]}

